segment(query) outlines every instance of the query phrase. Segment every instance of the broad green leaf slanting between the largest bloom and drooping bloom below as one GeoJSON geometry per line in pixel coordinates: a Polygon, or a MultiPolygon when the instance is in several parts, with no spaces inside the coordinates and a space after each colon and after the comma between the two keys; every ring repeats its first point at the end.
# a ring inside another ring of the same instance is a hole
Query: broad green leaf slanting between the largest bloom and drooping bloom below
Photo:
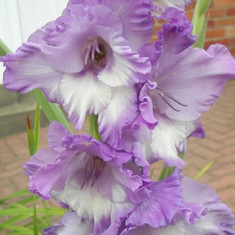
{"type": "Polygon", "coordinates": [[[57,121],[60,122],[62,125],[64,125],[68,131],[72,133],[72,129],[60,109],[59,105],[50,103],[46,100],[45,96],[39,89],[35,89],[32,91],[32,94],[34,98],[37,100],[37,102],[41,105],[47,119],[51,121],[57,121]]]}

